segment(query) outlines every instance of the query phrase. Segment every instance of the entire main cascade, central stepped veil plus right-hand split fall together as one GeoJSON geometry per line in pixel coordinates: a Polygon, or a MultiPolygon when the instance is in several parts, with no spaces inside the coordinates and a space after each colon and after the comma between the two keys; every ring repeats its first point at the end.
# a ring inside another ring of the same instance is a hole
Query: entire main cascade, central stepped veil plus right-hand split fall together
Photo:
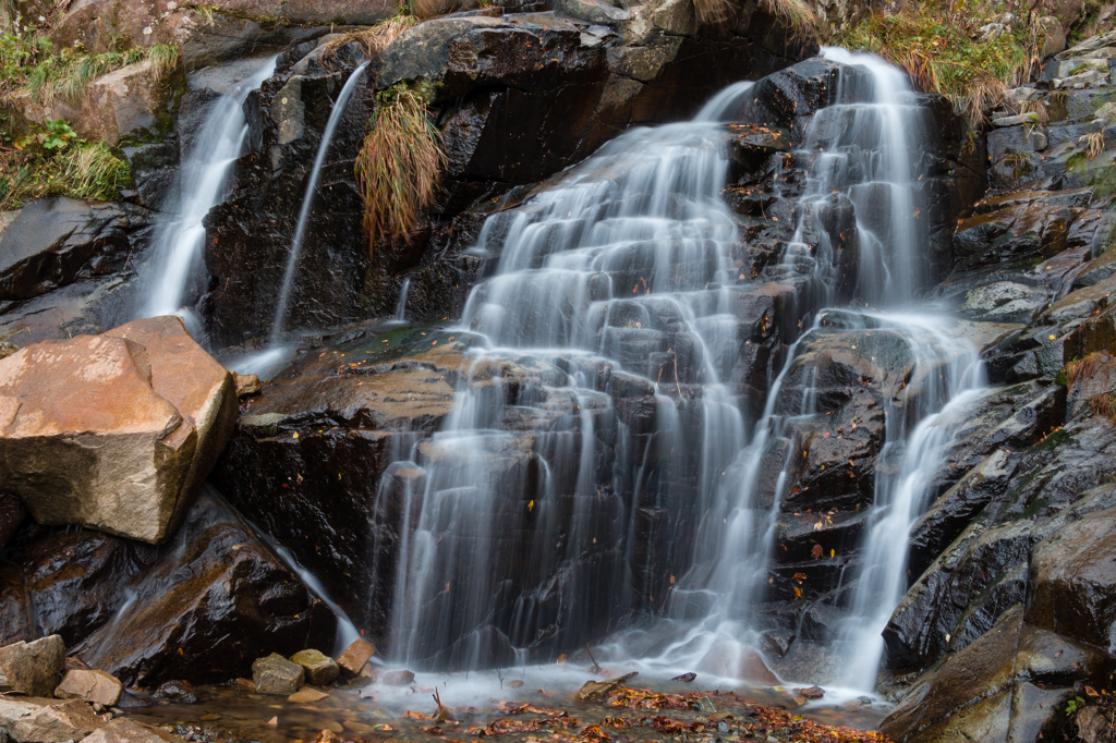
{"type": "MultiPolygon", "coordinates": [[[[666,631],[641,630],[661,638],[645,663],[747,676],[762,658],[756,610],[769,600],[789,454],[826,413],[804,359],[819,340],[852,339],[855,349],[875,335],[906,348],[913,382],[888,387],[877,456],[886,466],[846,575],[847,673],[835,679],[874,687],[879,631],[905,590],[907,529],[942,464],[950,409],[982,376],[947,318],[908,305],[930,274],[913,154],[922,112],[895,68],[826,56],[846,71],[788,161],[808,165],[793,237],[772,271],[812,320],[751,426],[733,369],[733,307],[754,286],[737,281],[738,228],[720,195],[725,132],[715,123],[747,102],[751,84],[722,91],[690,124],[623,135],[487,221],[477,251],[499,255],[498,266],[458,328],[479,350],[443,430],[393,465],[410,473],[402,508],[413,518],[382,581],[400,658],[522,663],[559,634],[573,645],[662,610],[666,631]],[[852,260],[826,226],[835,223],[843,238],[855,234],[852,260]],[[845,301],[854,307],[822,309],[845,301]],[[522,542],[528,533],[532,543],[522,542]],[[658,581],[663,566],[684,573],[658,581]],[[602,602],[604,620],[584,616],[602,602]]],[[[627,636],[614,637],[617,655],[632,657],[627,636]]]]}

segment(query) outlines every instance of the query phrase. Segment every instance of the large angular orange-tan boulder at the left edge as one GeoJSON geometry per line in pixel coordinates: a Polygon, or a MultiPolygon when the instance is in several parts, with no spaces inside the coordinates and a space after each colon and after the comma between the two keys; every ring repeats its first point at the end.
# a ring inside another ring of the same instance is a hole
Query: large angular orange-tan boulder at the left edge
{"type": "Polygon", "coordinates": [[[21,349],[0,360],[0,486],[36,521],[152,543],[181,521],[237,415],[231,375],[179,318],[21,349]]]}

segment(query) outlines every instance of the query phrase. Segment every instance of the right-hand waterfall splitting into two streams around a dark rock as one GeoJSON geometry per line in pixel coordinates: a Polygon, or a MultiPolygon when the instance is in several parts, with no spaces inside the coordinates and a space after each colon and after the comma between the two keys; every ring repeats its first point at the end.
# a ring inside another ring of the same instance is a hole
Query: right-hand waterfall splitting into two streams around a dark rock
{"type": "MultiPolygon", "coordinates": [[[[843,76],[835,103],[815,114],[805,146],[796,155],[809,167],[795,235],[779,273],[802,287],[799,296],[808,306],[824,307],[843,297],[862,306],[903,306],[924,288],[927,273],[925,230],[914,187],[917,161],[912,156],[924,131],[922,112],[903,76],[889,65],[843,49],[827,49],[825,55],[859,70],[863,78],[843,76]],[[855,218],[846,225],[857,237],[855,263],[839,254],[840,247],[821,226],[833,221],[841,200],[847,200],[855,218]]],[[[658,662],[695,663],[711,653],[735,652],[744,657],[730,667],[747,665],[747,655],[754,653],[748,644],[758,641],[750,614],[764,600],[767,578],[775,575],[791,453],[804,448],[800,436],[808,430],[804,423],[824,413],[810,380],[817,370],[798,369],[799,354],[818,338],[830,342],[848,338],[844,342],[856,349],[858,341],[864,344],[875,334],[877,339],[891,336],[906,346],[913,359],[911,378],[918,380],[910,387],[904,384],[885,401],[885,444],[877,455],[875,498],[859,566],[846,576],[852,599],[836,644],[845,673],[834,681],[869,692],[875,687],[883,656],[881,633],[906,590],[907,532],[926,505],[932,475],[944,462],[949,411],[963,406],[983,383],[975,349],[950,335],[949,326],[935,308],[817,311],[812,326],[790,348],[752,440],[733,465],[741,473],[741,488],[734,499],[710,509],[702,522],[708,539],[698,540],[694,565],[713,567],[695,569],[675,592],[673,605],[683,609],[675,616],[686,615],[694,594],[704,596],[709,612],[658,662]],[[799,375],[797,387],[788,389],[788,376],[797,372],[805,377],[799,375]],[[782,460],[778,476],[761,476],[772,459],[782,460]]]]}

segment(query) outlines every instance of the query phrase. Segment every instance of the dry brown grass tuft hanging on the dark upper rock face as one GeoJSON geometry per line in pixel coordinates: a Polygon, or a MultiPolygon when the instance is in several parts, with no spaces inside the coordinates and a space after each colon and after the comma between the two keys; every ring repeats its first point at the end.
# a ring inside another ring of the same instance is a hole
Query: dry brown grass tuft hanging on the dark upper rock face
{"type": "Polygon", "coordinates": [[[355,166],[369,254],[378,239],[408,238],[419,213],[433,201],[445,165],[441,133],[422,95],[396,86],[378,98],[355,166]]]}

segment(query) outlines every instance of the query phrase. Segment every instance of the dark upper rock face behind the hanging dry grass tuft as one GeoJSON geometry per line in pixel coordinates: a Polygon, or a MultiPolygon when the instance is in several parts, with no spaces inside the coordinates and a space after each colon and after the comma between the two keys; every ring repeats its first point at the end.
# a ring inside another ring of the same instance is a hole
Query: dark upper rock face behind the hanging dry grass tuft
{"type": "MultiPolygon", "coordinates": [[[[404,277],[412,316],[456,317],[481,270],[479,257],[463,251],[475,240],[479,218],[510,205],[501,195],[584,160],[628,126],[684,118],[729,83],[812,50],[810,42],[789,41],[781,21],[752,3],[734,29],[719,32],[698,29],[680,0],[613,10],[619,16],[610,26],[562,12],[435,19],[374,60],[319,182],[288,327],[389,315],[404,277]],[[695,77],[698,69],[704,73],[695,77]],[[410,240],[384,241],[369,260],[354,157],[374,91],[422,81],[434,84],[431,113],[449,156],[442,193],[410,240]]],[[[300,54],[309,56],[294,67],[296,59],[280,61],[277,77],[250,98],[261,146],[241,163],[233,197],[206,221],[212,279],[200,308],[218,345],[263,335],[271,322],[272,288],[281,280],[319,133],[352,70],[325,69],[311,48],[300,54]],[[295,118],[291,106],[299,109],[295,118]]]]}

